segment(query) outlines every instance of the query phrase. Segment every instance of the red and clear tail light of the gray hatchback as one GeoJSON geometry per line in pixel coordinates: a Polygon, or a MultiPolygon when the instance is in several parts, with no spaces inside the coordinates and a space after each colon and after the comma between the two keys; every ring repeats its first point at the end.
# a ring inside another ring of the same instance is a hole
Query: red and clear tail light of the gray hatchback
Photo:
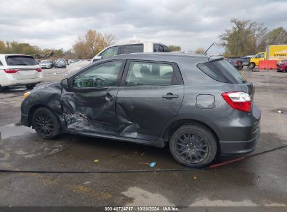
{"type": "Polygon", "coordinates": [[[243,112],[251,112],[252,103],[248,93],[242,91],[226,92],[221,94],[226,103],[233,109],[243,112]]]}

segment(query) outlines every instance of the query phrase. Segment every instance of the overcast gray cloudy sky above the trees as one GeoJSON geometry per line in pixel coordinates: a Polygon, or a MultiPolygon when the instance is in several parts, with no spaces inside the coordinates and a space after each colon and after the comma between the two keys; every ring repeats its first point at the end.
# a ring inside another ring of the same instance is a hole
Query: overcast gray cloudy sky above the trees
{"type": "MultiPolygon", "coordinates": [[[[115,35],[115,43],[151,40],[182,50],[209,47],[230,18],[287,28],[287,1],[266,0],[0,0],[0,40],[70,49],[88,29],[115,35]]],[[[210,52],[223,52],[214,47],[210,52]]]]}

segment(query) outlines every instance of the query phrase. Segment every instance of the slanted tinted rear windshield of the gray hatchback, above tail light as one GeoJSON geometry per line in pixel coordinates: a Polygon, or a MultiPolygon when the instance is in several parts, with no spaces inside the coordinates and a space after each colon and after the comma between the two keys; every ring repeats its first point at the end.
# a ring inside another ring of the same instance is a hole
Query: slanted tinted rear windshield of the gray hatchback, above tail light
{"type": "Polygon", "coordinates": [[[219,82],[232,84],[242,84],[247,82],[241,73],[225,59],[208,63],[200,63],[198,64],[198,68],[206,75],[219,82]]]}

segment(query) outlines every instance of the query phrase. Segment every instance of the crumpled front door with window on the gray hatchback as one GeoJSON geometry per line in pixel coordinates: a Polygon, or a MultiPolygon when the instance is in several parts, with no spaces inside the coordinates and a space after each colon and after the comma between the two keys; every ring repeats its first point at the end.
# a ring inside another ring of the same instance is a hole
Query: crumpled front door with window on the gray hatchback
{"type": "Polygon", "coordinates": [[[61,94],[67,130],[118,134],[115,103],[124,63],[103,61],[68,79],[61,94]]]}

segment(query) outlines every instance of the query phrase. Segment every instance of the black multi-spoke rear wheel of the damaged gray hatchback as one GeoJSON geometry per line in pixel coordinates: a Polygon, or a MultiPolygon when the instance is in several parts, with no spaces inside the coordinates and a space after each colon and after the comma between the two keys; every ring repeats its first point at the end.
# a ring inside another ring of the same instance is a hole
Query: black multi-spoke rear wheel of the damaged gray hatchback
{"type": "Polygon", "coordinates": [[[183,125],[170,137],[170,152],[182,165],[201,168],[216,156],[217,143],[214,133],[198,123],[183,125]]]}

